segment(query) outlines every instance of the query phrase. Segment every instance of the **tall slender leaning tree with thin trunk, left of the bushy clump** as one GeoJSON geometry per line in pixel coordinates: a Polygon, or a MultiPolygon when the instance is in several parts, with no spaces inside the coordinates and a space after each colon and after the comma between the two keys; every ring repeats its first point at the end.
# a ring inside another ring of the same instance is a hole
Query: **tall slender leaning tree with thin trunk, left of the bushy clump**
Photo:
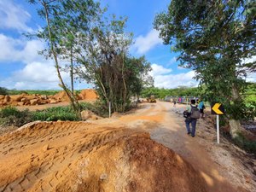
{"type": "MultiPolygon", "coordinates": [[[[94,3],[93,0],[29,0],[29,2],[39,3],[42,7],[38,10],[38,15],[45,19],[46,26],[36,34],[48,44],[42,53],[46,58],[54,59],[60,86],[66,92],[73,109],[79,113],[79,102],[61,77],[60,60],[61,57],[70,55],[73,67],[76,39],[82,33],[81,30],[83,32],[88,30],[90,21],[97,16],[100,10],[99,3],[94,3]]],[[[73,76],[73,72],[71,75],[73,76]]]]}

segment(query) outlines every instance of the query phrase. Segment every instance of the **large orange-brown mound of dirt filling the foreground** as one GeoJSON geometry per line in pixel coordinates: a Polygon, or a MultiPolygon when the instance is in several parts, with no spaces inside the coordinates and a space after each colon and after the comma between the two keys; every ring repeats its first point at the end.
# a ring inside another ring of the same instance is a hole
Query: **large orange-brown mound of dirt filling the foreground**
{"type": "Polygon", "coordinates": [[[0,137],[0,191],[206,191],[199,172],[148,133],[39,122],[0,137]]]}

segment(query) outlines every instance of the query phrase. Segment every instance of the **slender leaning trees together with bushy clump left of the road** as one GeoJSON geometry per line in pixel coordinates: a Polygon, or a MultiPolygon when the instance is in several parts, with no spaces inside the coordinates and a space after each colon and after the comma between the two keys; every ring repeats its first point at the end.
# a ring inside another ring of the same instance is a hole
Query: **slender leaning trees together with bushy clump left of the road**
{"type": "MultiPolygon", "coordinates": [[[[30,0],[38,3],[38,15],[46,26],[36,34],[49,45],[41,53],[54,59],[61,88],[66,91],[73,109],[79,113],[79,102],[61,78],[61,61],[73,61],[79,79],[94,84],[104,108],[124,112],[130,107],[131,95],[143,89],[149,63],[144,57],[129,55],[131,33],[125,32],[126,18],[105,17],[106,10],[93,0],[30,0]]],[[[73,84],[73,83],[72,83],[73,84]]],[[[73,90],[73,88],[72,88],[73,90]]]]}

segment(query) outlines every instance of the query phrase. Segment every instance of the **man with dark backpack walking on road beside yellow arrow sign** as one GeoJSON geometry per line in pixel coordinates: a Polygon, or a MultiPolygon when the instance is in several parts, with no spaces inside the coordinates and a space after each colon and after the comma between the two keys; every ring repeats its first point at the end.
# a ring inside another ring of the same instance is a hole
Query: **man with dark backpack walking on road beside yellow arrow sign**
{"type": "Polygon", "coordinates": [[[195,105],[195,99],[191,100],[190,106],[188,106],[187,111],[189,116],[185,119],[186,128],[188,134],[191,134],[192,137],[195,137],[195,126],[196,126],[196,119],[200,118],[200,112],[195,105]],[[190,124],[192,125],[192,131],[190,130],[190,124]]]}

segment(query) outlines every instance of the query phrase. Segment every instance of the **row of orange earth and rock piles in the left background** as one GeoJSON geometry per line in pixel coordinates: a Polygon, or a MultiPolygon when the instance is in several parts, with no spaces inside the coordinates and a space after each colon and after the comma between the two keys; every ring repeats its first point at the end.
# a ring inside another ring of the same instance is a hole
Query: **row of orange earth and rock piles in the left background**
{"type": "MultiPolygon", "coordinates": [[[[79,100],[92,101],[96,100],[97,95],[95,90],[82,90],[77,96],[79,100]]],[[[46,96],[39,94],[21,94],[14,96],[0,95],[0,106],[28,106],[28,105],[44,105],[47,103],[68,102],[68,96],[64,91],[60,91],[54,96],[46,96]]]]}

